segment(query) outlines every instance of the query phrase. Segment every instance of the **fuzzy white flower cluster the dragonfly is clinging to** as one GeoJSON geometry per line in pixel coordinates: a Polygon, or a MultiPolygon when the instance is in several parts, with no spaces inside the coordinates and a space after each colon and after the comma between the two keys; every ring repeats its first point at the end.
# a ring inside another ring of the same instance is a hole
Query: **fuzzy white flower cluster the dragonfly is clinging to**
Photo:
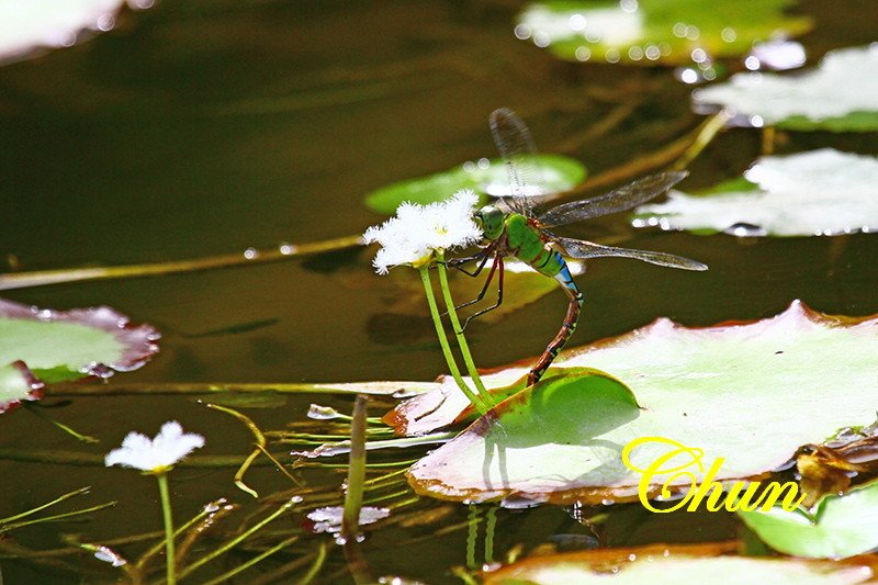
{"type": "Polygon", "coordinates": [[[386,274],[393,266],[420,267],[430,261],[437,250],[469,246],[479,241],[482,230],[473,222],[473,209],[479,196],[462,189],[451,199],[429,205],[403,203],[381,227],[372,226],[363,234],[367,244],[381,244],[372,266],[386,274]]]}

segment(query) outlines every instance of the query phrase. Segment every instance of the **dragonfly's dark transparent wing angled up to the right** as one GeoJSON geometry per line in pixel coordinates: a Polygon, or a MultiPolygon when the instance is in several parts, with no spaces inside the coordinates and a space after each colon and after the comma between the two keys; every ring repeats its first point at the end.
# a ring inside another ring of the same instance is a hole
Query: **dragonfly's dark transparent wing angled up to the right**
{"type": "Polygon", "coordinates": [[[609,193],[553,207],[542,214],[539,222],[545,227],[552,227],[630,210],[664,193],[687,175],[688,171],[652,175],[609,193]]]}

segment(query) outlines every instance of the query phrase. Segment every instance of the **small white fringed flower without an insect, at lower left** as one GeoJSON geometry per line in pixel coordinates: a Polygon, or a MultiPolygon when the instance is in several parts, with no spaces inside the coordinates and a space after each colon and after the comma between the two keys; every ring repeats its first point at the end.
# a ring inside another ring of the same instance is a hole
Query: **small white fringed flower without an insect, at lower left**
{"type": "Polygon", "coordinates": [[[122,465],[150,473],[164,473],[175,463],[204,447],[204,437],[183,432],[180,423],[172,420],[161,426],[155,439],[139,432],[128,432],[120,449],[113,449],[104,459],[106,466],[122,465]]]}

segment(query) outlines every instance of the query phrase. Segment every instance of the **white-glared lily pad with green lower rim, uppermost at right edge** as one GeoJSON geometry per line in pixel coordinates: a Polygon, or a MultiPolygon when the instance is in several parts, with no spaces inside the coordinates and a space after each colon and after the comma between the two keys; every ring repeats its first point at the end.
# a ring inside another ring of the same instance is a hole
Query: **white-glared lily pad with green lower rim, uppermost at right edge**
{"type": "Polygon", "coordinates": [[[693,92],[693,106],[731,110],[733,123],[789,130],[878,130],[878,45],[830,52],[812,71],[796,76],[738,74],[693,92]]]}

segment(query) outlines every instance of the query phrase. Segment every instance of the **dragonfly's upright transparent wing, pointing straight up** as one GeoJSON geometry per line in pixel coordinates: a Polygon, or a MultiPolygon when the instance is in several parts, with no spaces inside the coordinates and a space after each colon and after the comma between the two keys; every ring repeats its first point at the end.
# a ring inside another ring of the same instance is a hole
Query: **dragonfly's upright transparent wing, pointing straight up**
{"type": "Polygon", "coordinates": [[[540,170],[534,160],[537,147],[527,125],[508,108],[491,112],[491,135],[509,173],[511,201],[509,207],[522,215],[532,216],[530,196],[538,193],[540,170]]]}

